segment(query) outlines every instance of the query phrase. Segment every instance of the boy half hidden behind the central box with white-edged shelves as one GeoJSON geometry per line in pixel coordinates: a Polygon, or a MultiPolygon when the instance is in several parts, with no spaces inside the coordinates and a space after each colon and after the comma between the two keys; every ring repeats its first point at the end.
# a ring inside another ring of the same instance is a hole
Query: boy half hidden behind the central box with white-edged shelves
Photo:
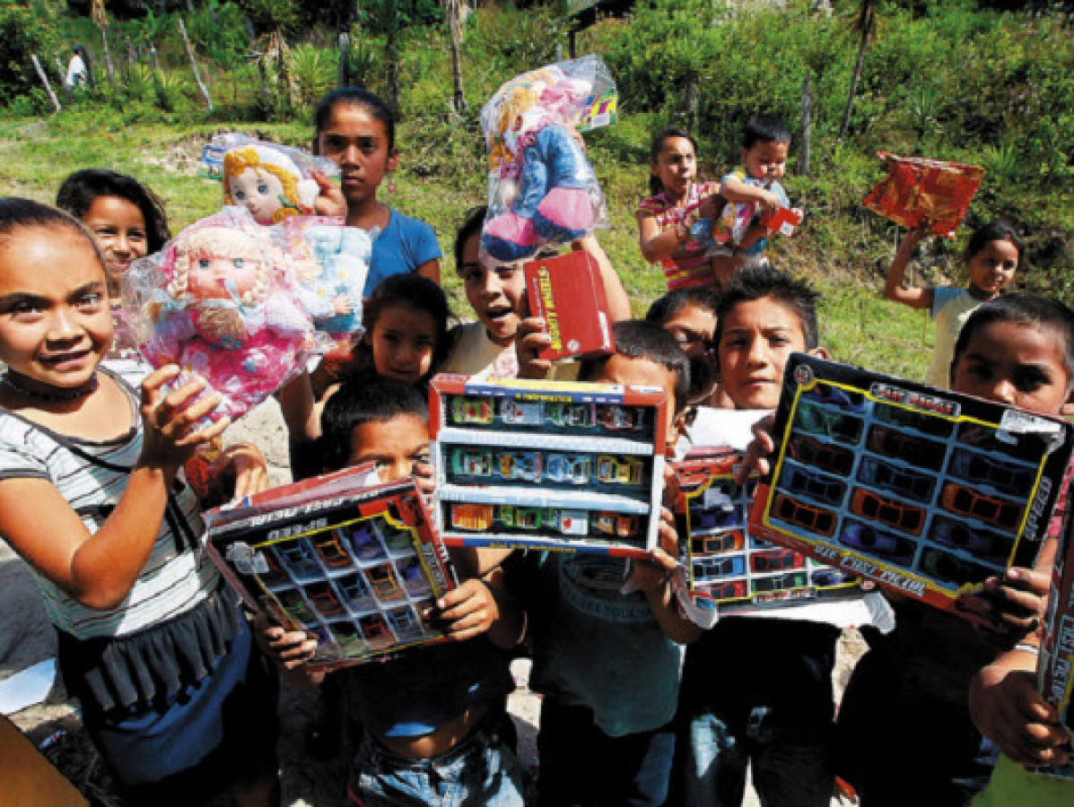
{"type": "MultiPolygon", "coordinates": [[[[583,362],[581,379],[667,390],[678,413],[690,362],[674,339],[648,322],[616,322],[616,352],[583,362]]],[[[673,419],[671,419],[673,420],[673,419]]],[[[665,436],[673,443],[676,428],[665,436]]],[[[545,695],[537,737],[538,804],[659,805],[667,796],[679,689],[680,643],[696,629],[676,611],[669,579],[676,534],[662,513],[661,548],[634,563],[563,553],[512,556],[508,588],[527,607],[534,666],[545,695]]]]}

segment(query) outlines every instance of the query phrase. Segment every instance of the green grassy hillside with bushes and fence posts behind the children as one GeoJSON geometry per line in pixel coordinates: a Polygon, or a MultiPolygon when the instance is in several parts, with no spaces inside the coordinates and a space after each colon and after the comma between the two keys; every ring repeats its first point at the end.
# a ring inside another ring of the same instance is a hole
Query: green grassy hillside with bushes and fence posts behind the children
{"type": "Polygon", "coordinates": [[[775,240],[773,261],[824,291],[822,337],[837,358],[918,376],[931,351],[930,324],[880,294],[899,229],[860,206],[884,174],[877,150],[986,170],[959,236],[923,248],[915,282],[962,282],[969,232],[1002,217],[1030,245],[1019,288],[1074,302],[1072,17],[1059,3],[1014,5],[643,0],[626,17],[599,19],[571,36],[571,9],[561,2],[460,9],[455,0],[126,0],[103,3],[103,14],[99,2],[6,2],[0,190],[50,202],[71,171],[114,167],[163,197],[175,232],[220,204],[218,185],[198,176],[208,136],[243,131],[308,147],[313,106],[345,72],[350,83],[396,99],[398,190],[382,188],[381,199],[436,229],[445,287],[465,316],[451,243],[464,211],[484,195],[480,106],[512,75],[568,58],[574,40],[576,53],[598,54],[619,85],[619,122],[586,135],[586,147],[609,202],[611,224],[598,235],[636,313],[664,288],[659,268],[641,259],[634,221],[647,193],[652,134],[668,123],[687,128],[705,172],[719,177],[738,159],[746,118],[770,112],[795,131],[785,185],[807,211],[794,238],[775,240]],[[75,43],[90,53],[95,86],[71,97],[59,71],[75,43]],[[57,92],[58,113],[30,54],[57,92]],[[800,150],[807,79],[808,172],[800,150]]]}

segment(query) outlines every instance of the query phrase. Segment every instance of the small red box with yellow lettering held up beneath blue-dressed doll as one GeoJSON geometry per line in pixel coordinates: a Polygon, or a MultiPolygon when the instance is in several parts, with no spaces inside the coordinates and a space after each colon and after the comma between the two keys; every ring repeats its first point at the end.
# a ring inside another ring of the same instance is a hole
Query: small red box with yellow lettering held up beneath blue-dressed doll
{"type": "Polygon", "coordinates": [[[538,353],[551,362],[615,351],[600,269],[584,250],[523,266],[529,312],[545,318],[552,343],[538,353]]]}

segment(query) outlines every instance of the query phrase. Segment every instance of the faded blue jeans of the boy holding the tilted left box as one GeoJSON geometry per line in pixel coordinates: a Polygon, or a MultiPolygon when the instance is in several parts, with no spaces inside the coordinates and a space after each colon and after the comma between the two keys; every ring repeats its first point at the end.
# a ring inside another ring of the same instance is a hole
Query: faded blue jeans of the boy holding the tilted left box
{"type": "Polygon", "coordinates": [[[427,759],[396,757],[366,732],[354,755],[348,803],[522,807],[522,767],[500,725],[497,719],[484,720],[450,751],[427,759]]]}

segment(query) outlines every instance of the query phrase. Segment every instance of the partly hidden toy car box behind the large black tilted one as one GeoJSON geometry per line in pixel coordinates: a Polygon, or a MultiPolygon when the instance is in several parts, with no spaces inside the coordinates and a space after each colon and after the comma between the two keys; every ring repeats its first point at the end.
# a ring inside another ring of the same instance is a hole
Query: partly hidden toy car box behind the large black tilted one
{"type": "Polygon", "coordinates": [[[853,573],[751,534],[757,478],[744,485],[736,481],[740,452],[713,450],[700,457],[695,450],[695,457],[673,464],[682,535],[674,582],[687,616],[711,627],[717,611],[743,614],[858,595],[853,573]]]}

